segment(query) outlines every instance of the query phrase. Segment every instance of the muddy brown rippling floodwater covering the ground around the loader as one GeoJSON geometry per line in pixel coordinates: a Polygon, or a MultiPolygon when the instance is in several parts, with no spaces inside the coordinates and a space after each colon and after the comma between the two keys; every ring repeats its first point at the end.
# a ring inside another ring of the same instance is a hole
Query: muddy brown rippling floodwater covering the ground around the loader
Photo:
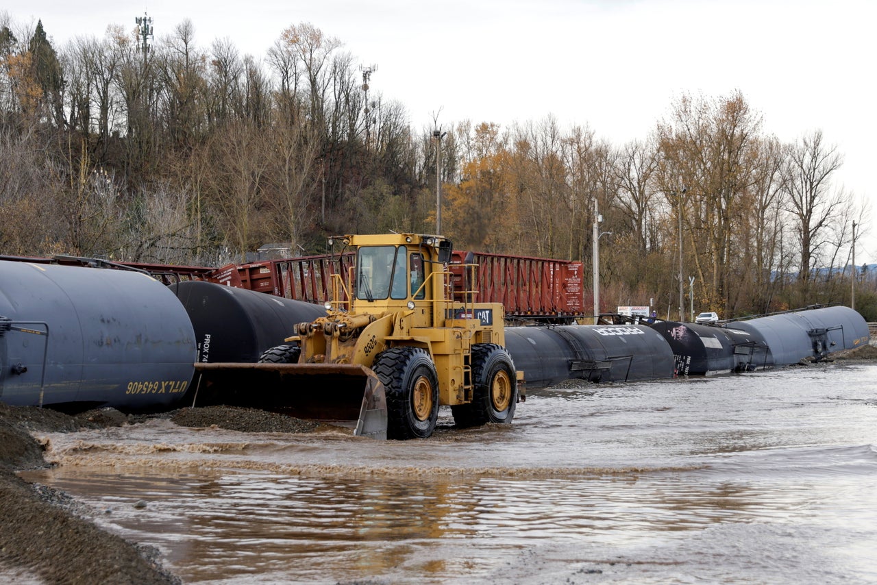
{"type": "Polygon", "coordinates": [[[877,364],[532,391],[416,441],[46,435],[96,522],[184,582],[877,581],[877,364]],[[139,501],[146,507],[138,507],[139,501]]]}

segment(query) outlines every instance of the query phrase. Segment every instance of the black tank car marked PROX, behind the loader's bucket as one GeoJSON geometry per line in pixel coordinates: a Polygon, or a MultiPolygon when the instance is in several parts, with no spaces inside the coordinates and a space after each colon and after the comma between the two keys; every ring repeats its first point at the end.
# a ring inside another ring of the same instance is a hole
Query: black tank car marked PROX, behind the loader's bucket
{"type": "Polygon", "coordinates": [[[317,304],[213,282],[185,281],[169,288],[195,328],[199,362],[258,361],[292,335],[295,325],[325,315],[317,304]]]}

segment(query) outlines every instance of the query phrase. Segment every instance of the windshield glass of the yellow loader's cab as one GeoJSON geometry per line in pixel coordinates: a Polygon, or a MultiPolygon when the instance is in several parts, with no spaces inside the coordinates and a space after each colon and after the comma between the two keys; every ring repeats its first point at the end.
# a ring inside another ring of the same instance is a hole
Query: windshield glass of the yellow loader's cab
{"type": "Polygon", "coordinates": [[[356,296],[364,301],[408,297],[404,247],[362,246],[357,253],[356,296]]]}

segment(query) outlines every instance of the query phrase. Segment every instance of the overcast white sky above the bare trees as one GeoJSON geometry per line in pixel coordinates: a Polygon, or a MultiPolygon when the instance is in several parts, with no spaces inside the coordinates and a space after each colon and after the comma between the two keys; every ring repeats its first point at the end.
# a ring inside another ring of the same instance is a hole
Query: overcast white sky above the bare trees
{"type": "MultiPolygon", "coordinates": [[[[42,19],[56,44],[133,27],[156,38],[184,18],[207,48],[228,38],[260,57],[289,25],[336,37],[371,87],[403,103],[415,128],[463,119],[589,125],[620,145],[641,139],[684,92],[740,89],[765,132],[784,141],[822,129],[845,164],[836,187],[871,203],[877,161],[873,0],[7,0],[18,23],[42,19]]],[[[866,226],[863,226],[866,227],[866,226]]],[[[877,232],[857,264],[877,261],[877,232]]]]}

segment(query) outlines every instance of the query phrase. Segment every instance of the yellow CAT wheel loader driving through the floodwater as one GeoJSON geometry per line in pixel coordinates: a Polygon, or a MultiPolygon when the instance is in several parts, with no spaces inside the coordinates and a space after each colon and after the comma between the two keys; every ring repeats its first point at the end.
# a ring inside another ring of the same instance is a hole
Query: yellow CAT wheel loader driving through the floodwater
{"type": "Polygon", "coordinates": [[[259,363],[196,364],[197,392],[374,439],[429,437],[439,405],[458,426],[510,423],[524,376],[505,349],[503,305],[453,290],[451,242],[414,233],[336,242],[356,260],[332,275],[325,317],[296,325],[259,363]]]}

